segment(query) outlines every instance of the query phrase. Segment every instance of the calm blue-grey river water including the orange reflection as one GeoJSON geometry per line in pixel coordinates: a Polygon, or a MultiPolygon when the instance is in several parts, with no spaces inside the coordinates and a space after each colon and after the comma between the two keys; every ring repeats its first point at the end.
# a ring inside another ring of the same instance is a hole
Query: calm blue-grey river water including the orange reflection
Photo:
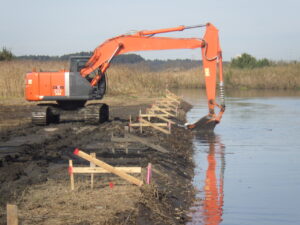
{"type": "MultiPolygon", "coordinates": [[[[207,114],[205,93],[179,90],[207,114]]],[[[188,224],[300,224],[300,92],[227,93],[214,134],[194,138],[197,200],[188,224]]]]}

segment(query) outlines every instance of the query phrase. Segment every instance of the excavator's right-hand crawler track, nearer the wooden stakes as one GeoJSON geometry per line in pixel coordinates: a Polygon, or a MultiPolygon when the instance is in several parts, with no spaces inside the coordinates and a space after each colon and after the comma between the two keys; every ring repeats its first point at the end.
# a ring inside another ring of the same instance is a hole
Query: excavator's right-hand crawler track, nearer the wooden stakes
{"type": "Polygon", "coordinates": [[[106,104],[88,105],[83,109],[84,122],[99,124],[109,120],[109,107],[106,104]]]}

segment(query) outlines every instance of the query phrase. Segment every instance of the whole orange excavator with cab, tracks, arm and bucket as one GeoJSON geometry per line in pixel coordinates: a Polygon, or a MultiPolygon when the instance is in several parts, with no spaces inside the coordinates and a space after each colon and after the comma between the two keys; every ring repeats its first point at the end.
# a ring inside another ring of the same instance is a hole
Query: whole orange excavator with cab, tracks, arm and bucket
{"type": "MultiPolygon", "coordinates": [[[[109,118],[106,104],[88,105],[86,101],[102,99],[106,91],[105,72],[113,57],[127,52],[195,49],[201,48],[209,113],[189,129],[209,128],[220,122],[225,110],[224,83],[222,75],[222,51],[218,30],[211,24],[178,26],[159,30],[143,30],[134,34],[120,35],[98,46],[91,57],[72,57],[70,70],[59,72],[31,72],[26,75],[26,99],[28,101],[56,101],[57,104],[39,104],[32,112],[32,122],[37,125],[57,123],[67,110],[79,110],[87,123],[101,123],[109,118]],[[203,38],[155,37],[156,34],[206,27],[203,38]],[[220,82],[221,104],[217,104],[216,79],[220,82]],[[215,113],[219,107],[220,112],[215,113]]],[[[125,85],[125,84],[124,84],[125,85]]]]}

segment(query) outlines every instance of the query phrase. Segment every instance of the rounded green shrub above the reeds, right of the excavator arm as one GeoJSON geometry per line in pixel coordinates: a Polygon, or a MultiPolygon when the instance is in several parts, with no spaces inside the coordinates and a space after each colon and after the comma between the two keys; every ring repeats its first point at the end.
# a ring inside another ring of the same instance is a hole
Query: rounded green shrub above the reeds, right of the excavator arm
{"type": "Polygon", "coordinates": [[[257,60],[252,55],[243,53],[241,56],[232,59],[230,65],[235,68],[253,69],[253,68],[258,68],[258,67],[270,66],[271,63],[266,58],[257,60]]]}

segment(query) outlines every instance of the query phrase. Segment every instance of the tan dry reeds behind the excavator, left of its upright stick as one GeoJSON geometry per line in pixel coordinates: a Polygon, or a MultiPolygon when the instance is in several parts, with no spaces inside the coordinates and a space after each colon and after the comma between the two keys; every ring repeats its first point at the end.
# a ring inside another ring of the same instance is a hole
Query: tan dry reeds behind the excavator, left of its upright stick
{"type": "MultiPolygon", "coordinates": [[[[0,62],[0,98],[24,97],[25,74],[32,71],[58,71],[68,69],[61,61],[0,62]]],[[[201,69],[179,68],[153,72],[142,65],[112,65],[107,71],[108,94],[154,95],[168,88],[204,87],[201,69]]]]}

